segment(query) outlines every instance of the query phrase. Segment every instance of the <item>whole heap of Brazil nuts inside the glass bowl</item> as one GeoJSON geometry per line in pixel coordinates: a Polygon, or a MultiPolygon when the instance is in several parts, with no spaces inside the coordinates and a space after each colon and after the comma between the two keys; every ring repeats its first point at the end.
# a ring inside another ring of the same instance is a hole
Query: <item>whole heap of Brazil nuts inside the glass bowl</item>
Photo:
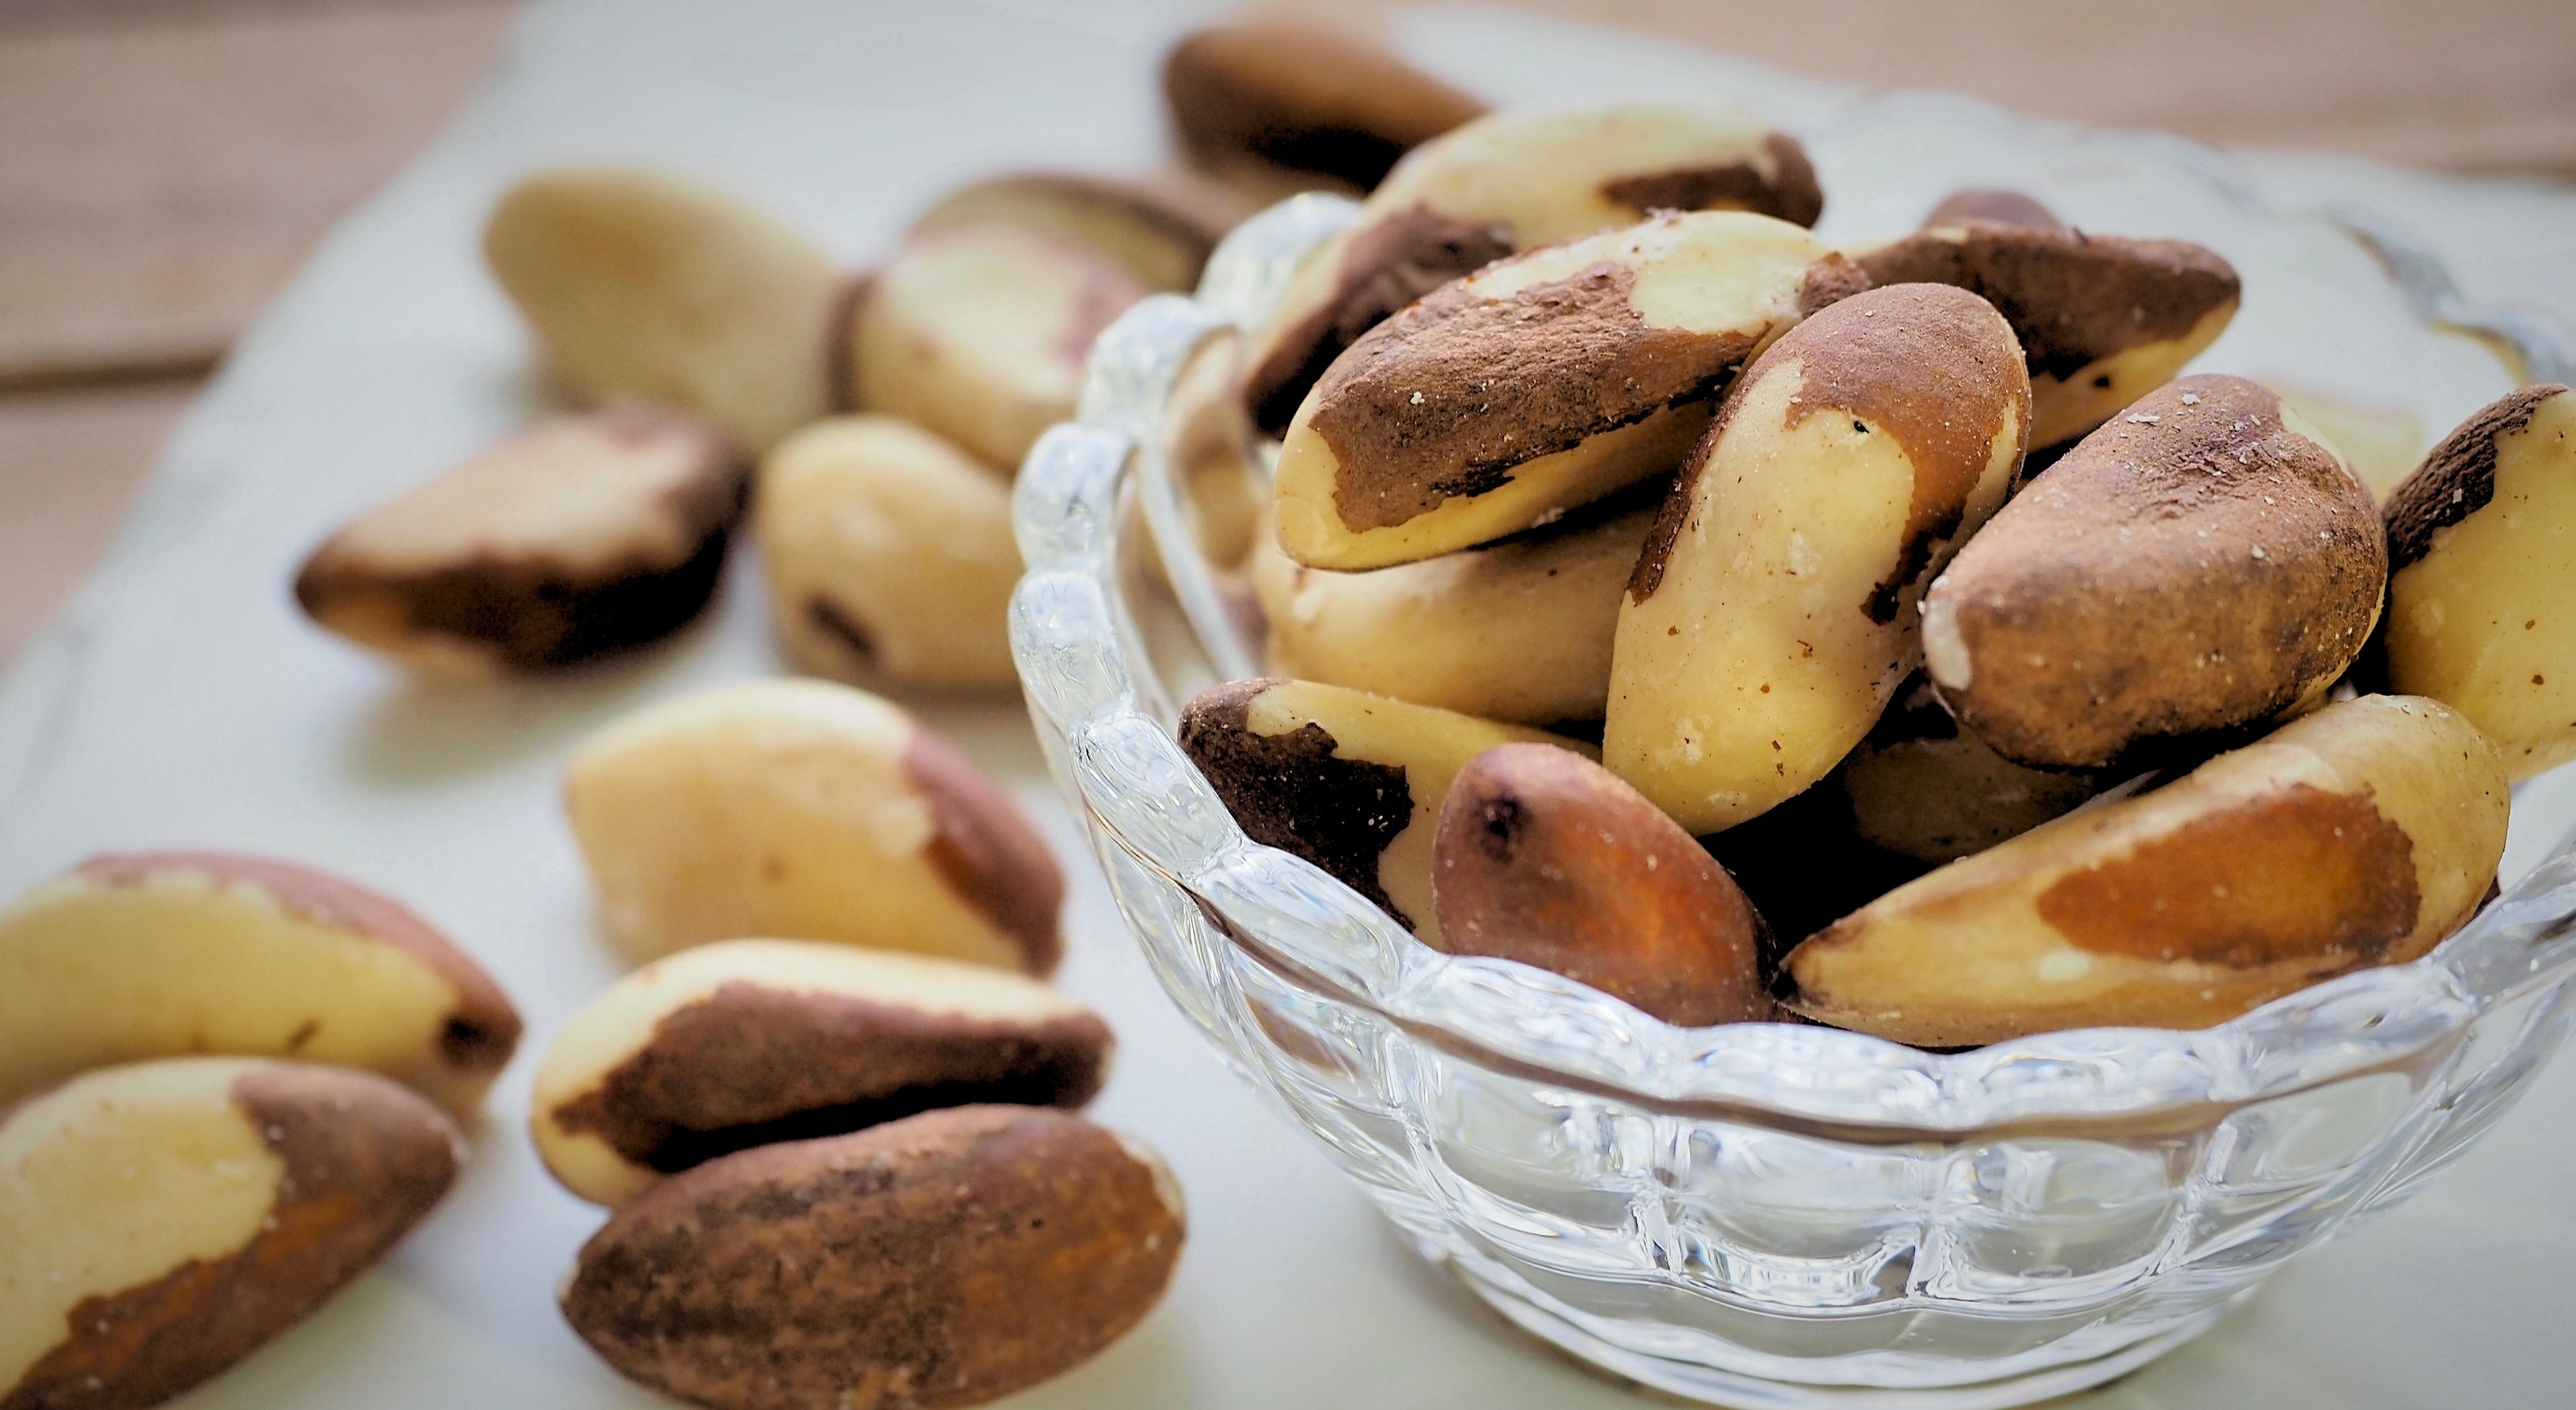
{"type": "Polygon", "coordinates": [[[2385,503],[2182,376],[2197,245],[1963,191],[1832,247],[1734,111],[1412,150],[1242,358],[1278,678],[1182,748],[1450,954],[1680,1026],[2195,1029],[2421,956],[2576,758],[2576,394],[2385,503]]]}

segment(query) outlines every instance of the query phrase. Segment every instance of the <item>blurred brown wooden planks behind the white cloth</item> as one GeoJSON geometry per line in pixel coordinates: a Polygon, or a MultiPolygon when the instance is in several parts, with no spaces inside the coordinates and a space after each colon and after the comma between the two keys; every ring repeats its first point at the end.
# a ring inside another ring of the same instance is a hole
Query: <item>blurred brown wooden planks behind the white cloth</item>
{"type": "MultiPolygon", "coordinates": [[[[2576,0],[1504,3],[2213,142],[2576,178],[2576,0]]],[[[0,0],[0,660],[95,559],[232,338],[438,129],[515,8],[0,0]]]]}

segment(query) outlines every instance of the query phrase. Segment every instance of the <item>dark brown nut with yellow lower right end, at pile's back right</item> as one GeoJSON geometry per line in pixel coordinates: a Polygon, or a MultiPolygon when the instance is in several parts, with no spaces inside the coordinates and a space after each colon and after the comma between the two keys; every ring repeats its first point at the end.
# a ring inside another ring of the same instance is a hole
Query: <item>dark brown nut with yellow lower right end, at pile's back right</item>
{"type": "Polygon", "coordinates": [[[2233,266],[2184,240],[2066,229],[2038,201],[2007,219],[1932,214],[1958,224],[1852,258],[1870,284],[1955,284],[2004,312],[2030,358],[2032,451],[2166,384],[2226,333],[2244,296],[2233,266]]]}

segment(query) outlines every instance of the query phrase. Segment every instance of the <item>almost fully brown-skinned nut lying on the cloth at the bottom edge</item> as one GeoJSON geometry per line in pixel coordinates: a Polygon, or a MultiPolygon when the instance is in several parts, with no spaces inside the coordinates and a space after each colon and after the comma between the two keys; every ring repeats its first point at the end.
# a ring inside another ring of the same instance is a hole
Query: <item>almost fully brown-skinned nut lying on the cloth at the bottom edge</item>
{"type": "Polygon", "coordinates": [[[1180,1186],[1128,1137],[961,1106],[654,1186],[582,1245],[564,1320],[714,1410],[945,1410],[1126,1335],[1182,1237],[1180,1186]]]}

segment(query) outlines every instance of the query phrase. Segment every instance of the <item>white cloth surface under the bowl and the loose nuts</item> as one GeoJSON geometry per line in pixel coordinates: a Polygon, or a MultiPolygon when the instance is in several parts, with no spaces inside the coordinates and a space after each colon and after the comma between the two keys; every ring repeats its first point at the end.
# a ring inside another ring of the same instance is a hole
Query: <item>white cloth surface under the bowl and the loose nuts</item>
{"type": "MultiPolygon", "coordinates": [[[[376,1273],[191,1410],[618,1407],[657,1400],[564,1328],[554,1284],[600,1214],[523,1134],[554,1029],[618,974],[556,768],[644,701],[778,670],[755,575],[667,650],[556,683],[407,686],[309,629],[294,562],[343,518],[544,405],[477,260],[531,165],[636,157],[721,180],[835,255],[881,250],[961,173],[1136,168],[1154,62],[1213,5],[554,0],[448,134],[312,260],[162,454],[118,552],[0,686],[0,892],[95,851],[270,851],[376,884],[484,959],[528,1016],[459,1191],[376,1273]]],[[[1795,126],[1821,85],[1669,44],[1414,15],[1404,44],[1494,98],[1741,95],[1795,126]],[[1587,88],[1589,85],[1589,88],[1587,88]]],[[[2486,296],[2576,317],[2576,196],[2354,160],[2254,157],[2287,201],[2401,214],[2486,296]]],[[[1095,1364],[1007,1405],[1618,1407],[1641,1397],[1520,1340],[1422,1268],[1321,1155],[1182,1026],[1046,786],[1018,701],[912,701],[1012,778],[1074,871],[1061,982],[1108,1013],[1095,1114],[1170,1155],[1190,1250],[1095,1364]]],[[[2239,1317],[2087,1405],[2375,1410],[2576,1402],[2576,1062],[2403,1209],[2277,1276],[2239,1317]]]]}

